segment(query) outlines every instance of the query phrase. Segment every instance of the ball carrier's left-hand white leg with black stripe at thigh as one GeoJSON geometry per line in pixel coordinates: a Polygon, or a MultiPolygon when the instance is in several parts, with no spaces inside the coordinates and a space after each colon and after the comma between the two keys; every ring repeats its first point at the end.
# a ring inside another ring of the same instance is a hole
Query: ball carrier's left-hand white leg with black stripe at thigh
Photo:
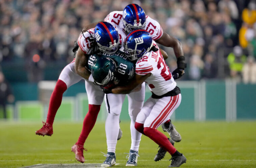
{"type": "Polygon", "coordinates": [[[104,167],[111,167],[116,163],[116,145],[119,133],[119,116],[124,102],[124,94],[106,94],[105,103],[108,116],[105,123],[107,154],[106,160],[101,164],[104,167]]]}

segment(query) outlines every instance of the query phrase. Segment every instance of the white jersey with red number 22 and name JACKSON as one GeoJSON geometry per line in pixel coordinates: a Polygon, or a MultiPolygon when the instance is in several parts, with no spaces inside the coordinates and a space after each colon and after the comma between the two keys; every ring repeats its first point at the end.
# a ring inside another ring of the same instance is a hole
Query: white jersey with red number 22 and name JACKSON
{"type": "Polygon", "coordinates": [[[153,46],[157,47],[158,51],[150,51],[138,59],[135,73],[138,75],[151,73],[145,82],[154,94],[161,96],[173,90],[176,87],[176,82],[155,41],[153,41],[153,46]]]}

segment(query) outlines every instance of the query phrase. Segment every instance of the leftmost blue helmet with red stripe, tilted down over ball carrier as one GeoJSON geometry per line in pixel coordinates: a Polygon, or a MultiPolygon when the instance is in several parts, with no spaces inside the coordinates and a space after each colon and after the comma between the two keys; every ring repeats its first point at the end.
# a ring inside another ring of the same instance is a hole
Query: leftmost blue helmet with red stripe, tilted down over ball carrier
{"type": "Polygon", "coordinates": [[[118,50],[118,31],[108,22],[100,22],[94,29],[94,37],[99,50],[106,54],[113,54],[118,50]]]}

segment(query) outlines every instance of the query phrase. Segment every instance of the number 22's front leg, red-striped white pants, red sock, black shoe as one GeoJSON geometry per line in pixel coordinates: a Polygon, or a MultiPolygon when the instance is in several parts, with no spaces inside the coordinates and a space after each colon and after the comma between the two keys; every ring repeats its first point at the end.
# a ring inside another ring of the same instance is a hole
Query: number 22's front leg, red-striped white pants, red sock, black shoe
{"type": "Polygon", "coordinates": [[[149,116],[144,123],[144,133],[172,156],[171,167],[179,167],[186,162],[183,154],[179,153],[168,138],[157,130],[164,122],[170,119],[175,109],[180,105],[181,94],[172,97],[157,99],[149,116]]]}

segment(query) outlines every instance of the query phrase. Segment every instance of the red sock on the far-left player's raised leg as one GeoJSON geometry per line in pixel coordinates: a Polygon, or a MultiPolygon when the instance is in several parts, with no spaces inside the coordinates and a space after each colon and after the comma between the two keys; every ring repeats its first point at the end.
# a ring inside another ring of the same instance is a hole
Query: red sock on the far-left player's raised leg
{"type": "Polygon", "coordinates": [[[62,95],[66,90],[67,90],[66,83],[58,79],[50,98],[46,123],[50,125],[53,124],[54,117],[62,101],[62,95]]]}

